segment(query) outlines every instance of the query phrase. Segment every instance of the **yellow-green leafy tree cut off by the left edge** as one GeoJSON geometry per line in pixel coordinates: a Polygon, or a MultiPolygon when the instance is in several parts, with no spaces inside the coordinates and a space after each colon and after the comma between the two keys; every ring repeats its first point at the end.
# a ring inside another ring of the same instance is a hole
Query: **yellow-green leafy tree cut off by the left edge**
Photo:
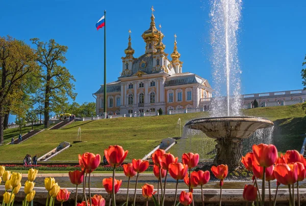
{"type": "Polygon", "coordinates": [[[34,50],[10,36],[0,37],[0,144],[4,143],[4,119],[14,101],[21,99],[27,76],[39,73],[34,50]]]}

